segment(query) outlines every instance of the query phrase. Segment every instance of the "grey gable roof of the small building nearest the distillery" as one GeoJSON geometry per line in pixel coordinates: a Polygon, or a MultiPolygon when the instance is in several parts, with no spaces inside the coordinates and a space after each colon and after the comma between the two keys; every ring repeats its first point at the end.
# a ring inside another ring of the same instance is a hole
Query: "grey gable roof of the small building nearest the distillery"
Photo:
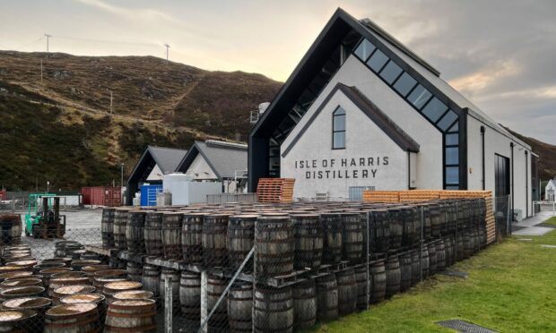
{"type": "Polygon", "coordinates": [[[220,180],[234,178],[236,171],[246,171],[248,169],[247,145],[207,140],[195,141],[187,155],[182,158],[177,171],[187,172],[198,154],[201,154],[206,163],[213,169],[214,175],[220,180]]]}

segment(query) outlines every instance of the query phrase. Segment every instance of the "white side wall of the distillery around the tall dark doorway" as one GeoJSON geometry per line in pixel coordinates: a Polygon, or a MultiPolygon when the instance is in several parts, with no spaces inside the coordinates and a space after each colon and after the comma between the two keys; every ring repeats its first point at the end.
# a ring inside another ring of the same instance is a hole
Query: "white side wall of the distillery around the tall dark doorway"
{"type": "Polygon", "coordinates": [[[481,126],[485,127],[484,133],[484,175],[485,190],[494,193],[494,157],[495,154],[509,158],[510,168],[510,192],[511,192],[511,168],[514,168],[514,209],[521,209],[523,217],[526,217],[528,208],[529,216],[533,215],[533,200],[531,195],[531,151],[513,141],[514,160],[511,160],[510,142],[507,136],[493,130],[473,116],[467,116],[467,187],[469,190],[482,189],[482,142],[481,126]],[[526,152],[527,151],[527,156],[526,152]],[[527,163],[527,166],[526,166],[527,163]],[[527,174],[526,174],[527,173],[527,174]],[[528,194],[526,194],[526,191],[528,194]],[[526,202],[528,199],[528,203],[526,202]],[[527,207],[528,205],[528,207],[527,207]]]}

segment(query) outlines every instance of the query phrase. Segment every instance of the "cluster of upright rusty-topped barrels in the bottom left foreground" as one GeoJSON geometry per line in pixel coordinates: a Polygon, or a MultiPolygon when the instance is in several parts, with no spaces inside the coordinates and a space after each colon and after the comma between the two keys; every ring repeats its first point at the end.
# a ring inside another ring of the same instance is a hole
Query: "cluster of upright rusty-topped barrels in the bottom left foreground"
{"type": "Polygon", "coordinates": [[[0,267],[0,331],[155,332],[153,294],[122,269],[95,256],[34,260],[28,245],[4,247],[28,255],[0,267]]]}

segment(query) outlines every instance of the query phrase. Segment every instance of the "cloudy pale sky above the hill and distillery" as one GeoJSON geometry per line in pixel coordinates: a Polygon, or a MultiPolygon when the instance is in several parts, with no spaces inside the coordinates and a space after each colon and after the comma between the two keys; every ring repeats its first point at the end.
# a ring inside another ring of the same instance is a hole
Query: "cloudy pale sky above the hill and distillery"
{"type": "Polygon", "coordinates": [[[500,124],[556,144],[554,0],[0,0],[0,49],[155,55],[286,81],[337,7],[368,17],[500,124]]]}

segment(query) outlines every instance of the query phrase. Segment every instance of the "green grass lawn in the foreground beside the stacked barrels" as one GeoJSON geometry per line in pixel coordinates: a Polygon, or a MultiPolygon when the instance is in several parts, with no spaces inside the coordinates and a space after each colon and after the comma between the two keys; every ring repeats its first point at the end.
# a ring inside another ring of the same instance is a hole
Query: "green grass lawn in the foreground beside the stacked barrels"
{"type": "MultiPolygon", "coordinates": [[[[552,218],[552,223],[556,219],[552,218]]],[[[456,263],[469,277],[435,276],[404,294],[316,332],[444,331],[435,322],[461,319],[500,332],[556,332],[556,230],[533,242],[510,237],[456,263]]]]}

